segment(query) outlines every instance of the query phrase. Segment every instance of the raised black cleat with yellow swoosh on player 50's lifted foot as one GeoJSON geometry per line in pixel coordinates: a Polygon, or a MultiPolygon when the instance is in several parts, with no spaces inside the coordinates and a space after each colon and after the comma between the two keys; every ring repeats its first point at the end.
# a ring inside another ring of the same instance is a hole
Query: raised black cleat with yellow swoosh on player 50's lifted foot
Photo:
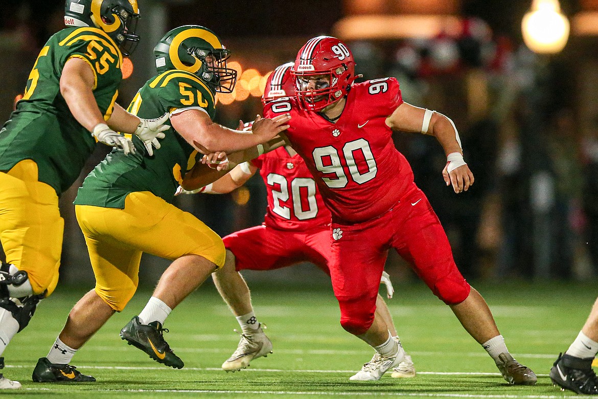
{"type": "Polygon", "coordinates": [[[170,349],[164,340],[164,333],[167,328],[162,328],[159,321],[152,321],[149,324],[142,324],[139,316],[135,316],[120,330],[120,337],[129,345],[139,348],[158,363],[166,364],[173,368],[183,368],[185,364],[175,352],[170,349]]]}

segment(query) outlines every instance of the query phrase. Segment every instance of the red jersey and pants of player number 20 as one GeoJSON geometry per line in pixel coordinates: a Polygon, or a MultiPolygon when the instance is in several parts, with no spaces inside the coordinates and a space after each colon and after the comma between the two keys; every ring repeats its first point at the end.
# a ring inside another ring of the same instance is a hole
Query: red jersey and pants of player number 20
{"type": "Polygon", "coordinates": [[[236,269],[272,270],[309,261],[329,274],[331,215],[303,159],[280,147],[251,162],[266,184],[268,207],[261,226],[224,237],[236,269]]]}

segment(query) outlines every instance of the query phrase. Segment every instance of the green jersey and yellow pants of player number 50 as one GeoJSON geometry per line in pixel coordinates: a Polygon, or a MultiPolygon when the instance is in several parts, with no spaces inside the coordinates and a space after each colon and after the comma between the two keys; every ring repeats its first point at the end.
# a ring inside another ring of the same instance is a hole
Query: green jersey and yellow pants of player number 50
{"type": "MultiPolygon", "coordinates": [[[[189,109],[214,116],[215,98],[191,72],[170,70],[149,80],[128,111],[156,118],[189,109]]],[[[175,260],[196,254],[224,264],[218,234],[188,212],[173,206],[176,188],[201,156],[172,127],[154,156],[144,156],[138,138],[136,154],[112,151],[87,176],[75,199],[77,220],[86,237],[96,293],[122,310],[138,285],[142,252],[175,260]]]]}

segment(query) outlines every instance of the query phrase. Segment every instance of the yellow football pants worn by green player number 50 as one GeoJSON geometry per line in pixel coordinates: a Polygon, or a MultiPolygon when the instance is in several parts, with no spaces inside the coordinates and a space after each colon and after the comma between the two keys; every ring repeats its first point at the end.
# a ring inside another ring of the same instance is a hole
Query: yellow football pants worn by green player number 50
{"type": "Polygon", "coordinates": [[[76,205],[96,293],[120,312],[135,294],[142,252],[175,260],[200,255],[224,265],[222,239],[188,212],[148,191],[130,193],[124,209],[76,205]]]}

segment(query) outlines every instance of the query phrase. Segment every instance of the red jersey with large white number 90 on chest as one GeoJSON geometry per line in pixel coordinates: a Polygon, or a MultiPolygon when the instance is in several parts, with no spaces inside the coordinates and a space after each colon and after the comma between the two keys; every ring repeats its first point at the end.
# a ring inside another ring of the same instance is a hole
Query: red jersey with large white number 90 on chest
{"type": "Polygon", "coordinates": [[[402,102],[398,81],[384,78],[353,84],[335,123],[301,109],[294,98],[268,103],[264,115],[291,113],[286,136],[315,176],[332,218],[356,223],[383,214],[416,190],[411,166],[386,125],[402,102]]]}

